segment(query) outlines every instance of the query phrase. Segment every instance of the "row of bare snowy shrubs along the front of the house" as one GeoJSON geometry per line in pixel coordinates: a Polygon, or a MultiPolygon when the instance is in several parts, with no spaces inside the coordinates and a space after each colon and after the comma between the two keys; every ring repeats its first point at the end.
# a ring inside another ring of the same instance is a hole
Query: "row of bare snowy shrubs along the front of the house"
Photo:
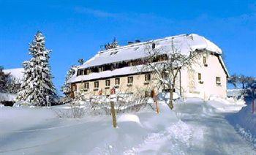
{"type": "Polygon", "coordinates": [[[83,90],[75,92],[75,99],[71,100],[66,110],[58,110],[59,117],[80,118],[83,115],[110,115],[110,101],[114,102],[116,113],[139,112],[145,107],[155,110],[154,102],[143,94],[114,94],[110,97],[101,95],[90,99],[85,98],[83,90]],[[78,116],[78,117],[77,117],[78,116]]]}

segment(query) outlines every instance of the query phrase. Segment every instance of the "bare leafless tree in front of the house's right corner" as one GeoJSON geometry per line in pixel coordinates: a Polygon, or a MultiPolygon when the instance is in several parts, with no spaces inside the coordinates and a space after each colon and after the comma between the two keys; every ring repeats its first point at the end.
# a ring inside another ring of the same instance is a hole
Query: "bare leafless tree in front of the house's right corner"
{"type": "Polygon", "coordinates": [[[148,42],[146,53],[148,54],[143,71],[151,72],[154,76],[152,80],[157,81],[157,88],[167,88],[170,92],[169,107],[173,109],[173,91],[176,80],[181,69],[190,68],[196,62],[198,52],[189,49],[184,54],[178,48],[179,42],[170,43],[170,48],[156,48],[156,42],[148,42]]]}

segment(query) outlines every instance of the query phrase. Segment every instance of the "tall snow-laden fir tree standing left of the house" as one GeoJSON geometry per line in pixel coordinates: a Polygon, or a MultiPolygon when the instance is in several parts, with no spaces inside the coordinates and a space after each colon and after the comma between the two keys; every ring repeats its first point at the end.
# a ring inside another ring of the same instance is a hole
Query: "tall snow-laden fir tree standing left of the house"
{"type": "Polygon", "coordinates": [[[29,105],[53,105],[56,103],[56,89],[50,73],[50,50],[45,48],[45,36],[39,31],[30,44],[29,54],[32,58],[23,62],[23,83],[18,99],[29,105]]]}

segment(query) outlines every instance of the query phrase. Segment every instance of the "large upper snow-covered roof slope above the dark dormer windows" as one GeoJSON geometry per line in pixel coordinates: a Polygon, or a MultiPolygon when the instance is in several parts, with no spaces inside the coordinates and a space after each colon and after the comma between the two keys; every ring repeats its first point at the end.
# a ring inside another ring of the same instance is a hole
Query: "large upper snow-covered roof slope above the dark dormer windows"
{"type": "Polygon", "coordinates": [[[191,50],[209,50],[214,53],[222,54],[222,50],[205,37],[197,34],[182,34],[99,51],[97,55],[86,61],[80,68],[144,58],[148,56],[146,47],[149,42],[155,42],[156,48],[163,48],[165,51],[170,51],[172,49],[171,46],[173,42],[173,45],[184,54],[188,54],[191,50]]]}

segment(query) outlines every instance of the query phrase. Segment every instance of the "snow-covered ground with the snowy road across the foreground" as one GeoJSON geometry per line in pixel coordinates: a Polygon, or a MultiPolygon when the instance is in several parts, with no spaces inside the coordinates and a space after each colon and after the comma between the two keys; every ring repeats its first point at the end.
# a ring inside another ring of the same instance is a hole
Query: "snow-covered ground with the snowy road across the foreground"
{"type": "Polygon", "coordinates": [[[226,116],[236,118],[241,102],[188,99],[160,113],[58,118],[50,108],[1,107],[0,154],[256,154],[226,116]]]}

